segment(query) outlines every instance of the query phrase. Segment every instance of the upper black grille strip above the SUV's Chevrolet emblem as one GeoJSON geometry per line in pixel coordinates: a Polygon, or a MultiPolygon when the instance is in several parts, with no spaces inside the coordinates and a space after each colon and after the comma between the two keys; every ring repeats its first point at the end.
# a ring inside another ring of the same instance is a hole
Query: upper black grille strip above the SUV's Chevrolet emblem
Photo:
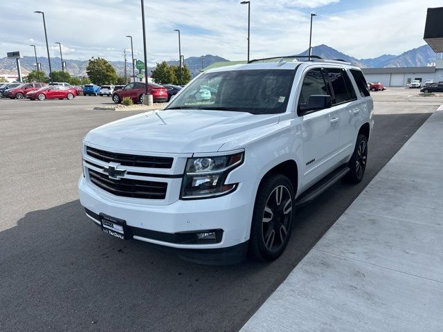
{"type": "Polygon", "coordinates": [[[102,160],[105,163],[120,163],[123,166],[149,167],[149,168],[171,168],[174,158],[140,156],[138,154],[116,154],[114,152],[103,151],[94,147],[87,147],[88,156],[102,160]]]}

